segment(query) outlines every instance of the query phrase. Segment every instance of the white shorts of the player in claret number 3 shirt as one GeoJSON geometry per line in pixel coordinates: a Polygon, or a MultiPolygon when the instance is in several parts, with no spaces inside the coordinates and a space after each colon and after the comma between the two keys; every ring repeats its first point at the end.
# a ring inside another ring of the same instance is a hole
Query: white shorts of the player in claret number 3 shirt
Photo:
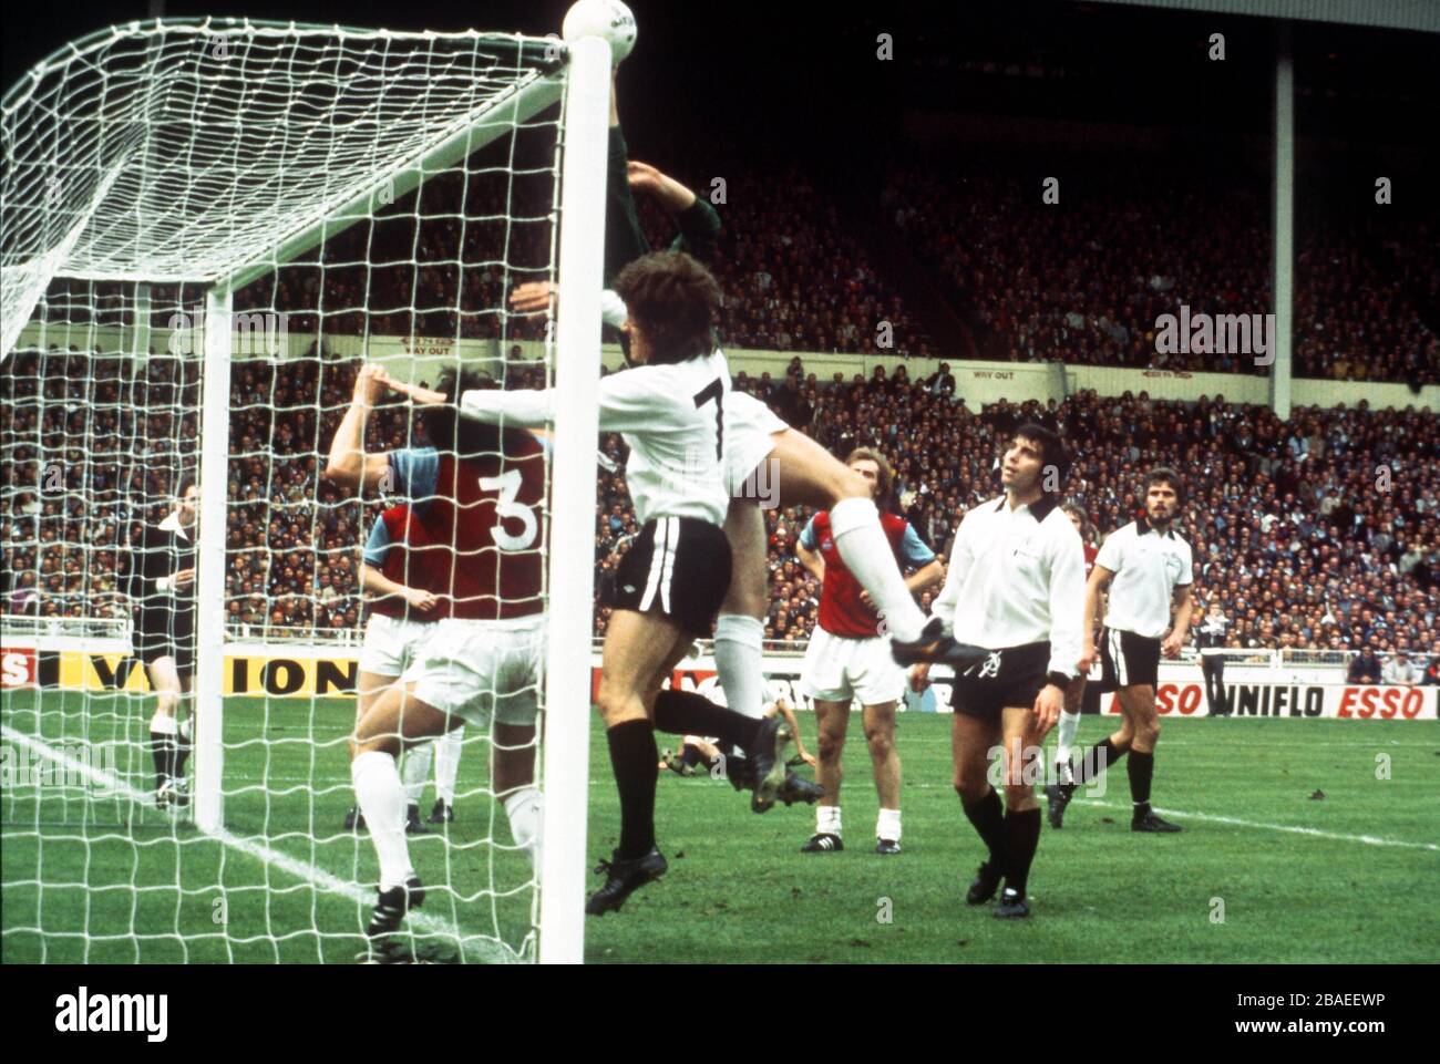
{"type": "Polygon", "coordinates": [[[544,615],[513,621],[445,618],[433,625],[403,682],[415,697],[477,727],[534,724],[544,661],[544,615]]]}

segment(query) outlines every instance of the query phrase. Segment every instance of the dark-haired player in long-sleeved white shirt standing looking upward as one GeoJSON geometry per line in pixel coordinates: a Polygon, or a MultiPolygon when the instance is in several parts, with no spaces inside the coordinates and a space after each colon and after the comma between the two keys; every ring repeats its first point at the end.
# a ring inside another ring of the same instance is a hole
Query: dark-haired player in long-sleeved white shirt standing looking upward
{"type": "MultiPolygon", "coordinates": [[[[1060,510],[1070,461],[1041,425],[1022,425],[1001,465],[1005,494],[978,504],[960,521],[945,590],[933,610],[960,644],[988,648],[956,667],[952,720],[955,789],[989,848],[965,900],[1001,894],[995,916],[1030,916],[1030,865],[1040,844],[1041,741],[1060,717],[1066,688],[1080,675],[1084,550],[1060,510]],[[1004,749],[1005,803],[989,780],[989,757],[1004,749]]],[[[916,665],[923,690],[929,665],[916,665]]]]}

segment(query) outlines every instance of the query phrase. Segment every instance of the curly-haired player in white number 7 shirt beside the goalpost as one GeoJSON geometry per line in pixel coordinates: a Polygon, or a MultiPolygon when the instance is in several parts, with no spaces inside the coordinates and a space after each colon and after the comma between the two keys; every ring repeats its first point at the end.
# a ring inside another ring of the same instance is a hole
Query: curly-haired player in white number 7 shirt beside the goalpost
{"type": "MultiPolygon", "coordinates": [[[[599,710],[621,798],[621,839],[602,861],[605,885],[586,911],[618,910],[667,862],[655,845],[655,729],[714,736],[746,753],[752,808],[765,812],[785,782],[791,731],[661,684],[697,636],[710,634],[730,585],[730,544],[720,526],[730,497],[723,475],[730,369],[714,346],[720,288],[688,255],[657,252],[615,279],[628,317],[634,367],[602,379],[599,428],[629,446],[625,481],[642,528],[616,570],[605,635],[599,710]]],[[[409,389],[418,402],[442,396],[409,389]]],[[[516,428],[552,420],[553,393],[467,392],[461,412],[516,428]]]]}

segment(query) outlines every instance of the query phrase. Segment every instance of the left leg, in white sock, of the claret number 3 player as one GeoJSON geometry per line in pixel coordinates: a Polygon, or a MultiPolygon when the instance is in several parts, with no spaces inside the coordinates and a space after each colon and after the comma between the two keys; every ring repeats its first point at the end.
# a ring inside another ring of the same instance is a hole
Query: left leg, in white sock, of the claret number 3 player
{"type": "Polygon", "coordinates": [[[396,762],[405,746],[442,734],[452,724],[459,718],[418,700],[415,684],[392,684],[356,727],[350,779],[380,861],[379,900],[366,927],[372,956],[405,914],[425,901],[405,841],[405,786],[396,762]]]}

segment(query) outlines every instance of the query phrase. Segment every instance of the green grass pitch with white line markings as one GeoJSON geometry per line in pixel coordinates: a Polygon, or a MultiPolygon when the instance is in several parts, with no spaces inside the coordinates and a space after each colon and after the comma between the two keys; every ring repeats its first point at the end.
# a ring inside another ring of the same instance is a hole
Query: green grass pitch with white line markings
{"type": "MultiPolygon", "coordinates": [[[[7,734],[4,962],[351,962],[376,874],[369,839],[340,829],[351,802],[344,737],[353,705],[228,701],[232,845],[125,798],[19,779],[7,734]]],[[[144,698],[24,691],[4,695],[0,718],[55,747],[82,736],[117,743],[118,773],[148,789],[148,756],[138,746],[147,716],[144,698]]],[[[814,747],[812,723],[805,714],[801,721],[814,747]]],[[[1107,730],[1109,721],[1087,717],[1081,743],[1107,730]]],[[[1034,916],[1022,923],[963,903],[982,854],[949,786],[949,717],[903,716],[899,746],[899,857],[873,852],[876,793],[858,729],[845,750],[841,854],[798,852],[814,831],[806,806],[756,816],[723,782],[665,773],[657,819],[670,873],[621,913],[590,919],[588,960],[1436,959],[1434,721],[1168,723],[1155,799],[1185,831],[1129,831],[1122,763],[1104,796],[1079,798],[1066,828],[1041,835],[1034,916]]],[[[484,786],[482,750],[467,743],[462,795],[484,786]]],[[[608,855],[618,811],[593,724],[590,796],[588,852],[608,855]]],[[[432,801],[426,792],[425,811],[432,801]]],[[[436,834],[412,845],[418,871],[436,888],[423,909],[429,930],[444,937],[444,929],[458,929],[467,940],[498,939],[523,952],[528,864],[485,842],[508,847],[504,812],[477,795],[462,796],[456,816],[448,839],[436,834]]]]}

